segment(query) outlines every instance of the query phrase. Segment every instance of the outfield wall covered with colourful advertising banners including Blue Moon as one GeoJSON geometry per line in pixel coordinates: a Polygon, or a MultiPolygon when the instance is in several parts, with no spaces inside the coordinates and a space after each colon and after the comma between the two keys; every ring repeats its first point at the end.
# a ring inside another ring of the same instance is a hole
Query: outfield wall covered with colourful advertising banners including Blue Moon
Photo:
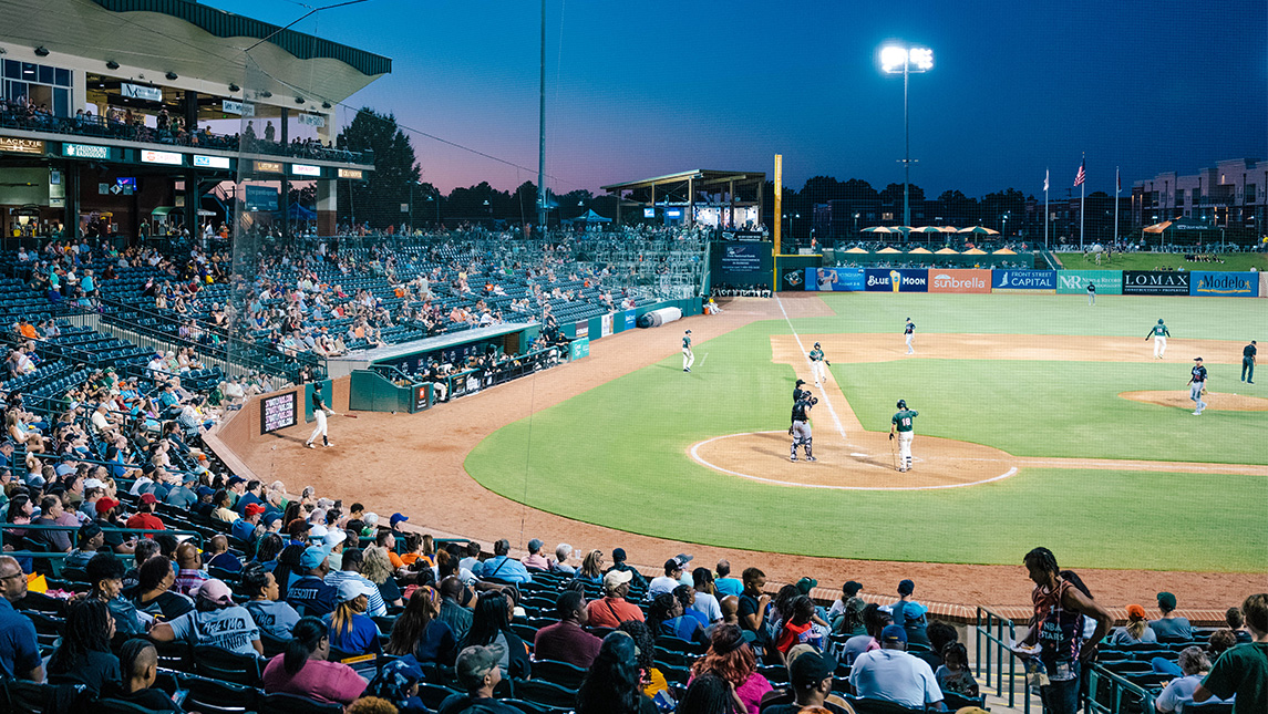
{"type": "Polygon", "coordinates": [[[838,293],[1027,293],[1268,298],[1268,274],[1213,270],[806,268],[805,289],[838,293]]]}

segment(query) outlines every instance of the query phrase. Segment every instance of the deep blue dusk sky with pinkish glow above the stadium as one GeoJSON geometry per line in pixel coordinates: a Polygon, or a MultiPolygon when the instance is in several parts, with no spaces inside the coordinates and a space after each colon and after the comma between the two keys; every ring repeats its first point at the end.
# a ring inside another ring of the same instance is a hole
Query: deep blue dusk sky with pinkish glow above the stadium
{"type": "MultiPolygon", "coordinates": [[[[312,0],[309,0],[312,1],[312,0]]],[[[294,0],[208,0],[285,24],[294,0]]],[[[933,49],[910,82],[912,183],[931,195],[1064,195],[1268,156],[1268,3],[548,0],[548,185],[564,193],[689,169],[902,181],[903,82],[889,41],[933,49]]],[[[295,25],[392,57],[349,99],[420,134],[443,190],[536,180],[540,5],[369,0],[295,25]]]]}

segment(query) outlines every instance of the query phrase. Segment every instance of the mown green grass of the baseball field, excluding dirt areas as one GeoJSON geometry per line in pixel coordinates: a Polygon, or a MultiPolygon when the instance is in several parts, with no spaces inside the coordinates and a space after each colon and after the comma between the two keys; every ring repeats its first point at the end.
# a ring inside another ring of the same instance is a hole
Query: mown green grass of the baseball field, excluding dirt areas
{"type": "MultiPolygon", "coordinates": [[[[1191,339],[1244,339],[1248,327],[1263,328],[1268,307],[1215,298],[1104,303],[1088,308],[1080,295],[829,295],[837,317],[794,323],[803,334],[893,331],[900,345],[907,316],[921,331],[1141,337],[1165,317],[1177,349],[1191,339]]],[[[952,491],[824,492],[737,479],[692,462],[687,448],[709,436],[787,425],[792,369],[773,364],[770,346],[771,335],[782,334],[784,321],[753,323],[699,344],[690,375],[675,354],[511,424],[472,451],[467,469],[492,491],[545,511],[713,545],[1013,564],[1042,540],[1061,543],[1071,567],[1268,571],[1264,478],[1026,469],[952,491]]],[[[639,339],[671,336],[648,331],[639,339]]],[[[902,389],[922,411],[922,434],[1036,455],[1264,463],[1255,446],[1268,432],[1268,412],[1194,419],[1112,396],[1177,388],[1175,369],[1182,367],[979,360],[834,367],[869,429],[885,429],[902,389]]]]}

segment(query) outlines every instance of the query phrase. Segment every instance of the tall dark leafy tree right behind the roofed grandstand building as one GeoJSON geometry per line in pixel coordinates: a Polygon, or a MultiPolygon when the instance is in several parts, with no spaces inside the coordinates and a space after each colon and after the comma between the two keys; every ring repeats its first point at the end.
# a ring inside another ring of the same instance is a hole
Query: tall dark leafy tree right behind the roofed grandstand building
{"type": "Polygon", "coordinates": [[[350,151],[374,152],[374,171],[368,171],[364,181],[354,181],[350,190],[340,186],[339,216],[358,223],[369,221],[374,228],[404,219],[401,205],[410,204],[411,186],[413,198],[422,194],[415,185],[420,174],[413,145],[397,127],[396,115],[361,108],[339,138],[350,151]]]}

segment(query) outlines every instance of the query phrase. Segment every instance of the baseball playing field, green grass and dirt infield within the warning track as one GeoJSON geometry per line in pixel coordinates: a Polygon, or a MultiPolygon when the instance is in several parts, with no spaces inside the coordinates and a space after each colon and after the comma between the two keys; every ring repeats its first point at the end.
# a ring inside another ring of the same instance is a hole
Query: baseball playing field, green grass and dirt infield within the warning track
{"type": "Polygon", "coordinates": [[[1014,564],[1042,540],[1068,567],[1268,572],[1268,374],[1239,380],[1268,302],[851,293],[785,306],[697,342],[690,374],[680,323],[640,331],[671,356],[526,410],[467,472],[552,514],[725,548],[1014,564]],[[1172,332],[1160,360],[1144,339],[1159,318],[1172,332]],[[815,341],[832,361],[822,387],[805,360],[815,341]],[[1201,416],[1186,386],[1196,356],[1210,370],[1201,416]],[[820,398],[815,463],[789,462],[798,377],[820,398]],[[899,398],[919,412],[908,473],[886,439],[899,398]]]}

